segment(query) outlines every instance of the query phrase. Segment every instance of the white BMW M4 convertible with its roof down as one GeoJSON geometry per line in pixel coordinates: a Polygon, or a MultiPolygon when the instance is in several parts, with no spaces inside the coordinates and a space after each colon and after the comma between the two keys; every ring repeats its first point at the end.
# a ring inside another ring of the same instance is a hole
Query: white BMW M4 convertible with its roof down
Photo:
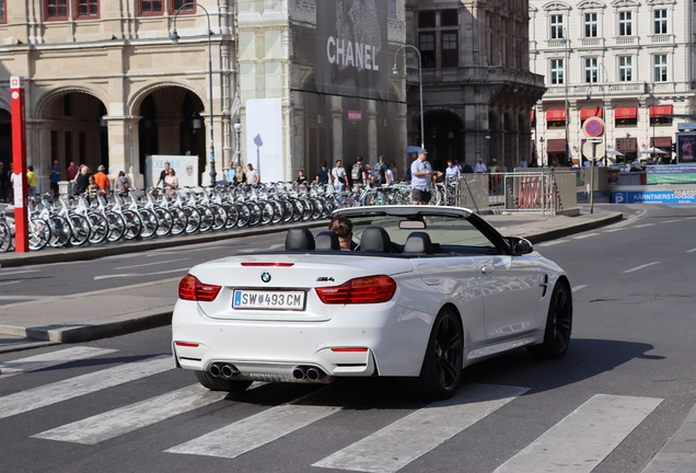
{"type": "Polygon", "coordinates": [[[379,376],[446,399],[474,362],[522,346],[566,354],[568,277],[527,240],[455,207],[348,208],[334,219],[345,234],[293,228],[283,251],[190,269],[172,320],[176,366],[211,390],[379,376]]]}

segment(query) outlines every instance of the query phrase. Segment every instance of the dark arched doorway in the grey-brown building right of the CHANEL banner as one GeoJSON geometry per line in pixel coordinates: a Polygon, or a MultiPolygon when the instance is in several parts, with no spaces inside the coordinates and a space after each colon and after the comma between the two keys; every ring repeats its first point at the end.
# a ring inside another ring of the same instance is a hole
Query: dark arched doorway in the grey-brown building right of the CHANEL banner
{"type": "Polygon", "coordinates": [[[451,112],[430,112],[426,114],[424,128],[428,160],[432,169],[444,171],[448,160],[465,159],[464,125],[460,117],[451,112]]]}

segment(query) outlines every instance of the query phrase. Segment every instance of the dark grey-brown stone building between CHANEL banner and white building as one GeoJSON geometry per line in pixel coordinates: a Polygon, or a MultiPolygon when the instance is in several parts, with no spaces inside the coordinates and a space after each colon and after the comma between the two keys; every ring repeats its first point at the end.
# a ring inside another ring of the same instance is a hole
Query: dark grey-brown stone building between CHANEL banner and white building
{"type": "MultiPolygon", "coordinates": [[[[407,0],[407,43],[422,57],[425,145],[436,168],[532,157],[530,111],[544,79],[530,72],[526,0],[407,0]]],[[[410,53],[408,53],[411,55],[410,53]]],[[[408,69],[409,143],[420,142],[418,70],[408,69]]]]}

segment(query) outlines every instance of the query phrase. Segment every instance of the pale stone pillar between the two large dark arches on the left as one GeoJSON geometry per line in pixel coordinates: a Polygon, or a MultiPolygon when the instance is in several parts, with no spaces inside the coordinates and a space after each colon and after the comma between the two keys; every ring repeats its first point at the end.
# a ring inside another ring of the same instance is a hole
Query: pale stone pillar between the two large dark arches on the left
{"type": "Polygon", "coordinates": [[[124,171],[134,187],[142,188],[144,177],[140,170],[140,137],[138,123],[141,116],[105,116],[108,127],[108,168],[111,173],[124,171]]]}

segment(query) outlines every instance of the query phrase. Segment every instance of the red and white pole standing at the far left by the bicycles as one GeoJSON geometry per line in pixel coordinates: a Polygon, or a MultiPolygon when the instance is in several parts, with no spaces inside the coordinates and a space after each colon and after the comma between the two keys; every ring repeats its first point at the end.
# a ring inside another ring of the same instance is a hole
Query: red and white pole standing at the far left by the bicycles
{"type": "Polygon", "coordinates": [[[12,173],[14,189],[14,251],[28,252],[28,209],[26,195],[26,114],[24,78],[10,78],[12,97],[12,173]]]}

